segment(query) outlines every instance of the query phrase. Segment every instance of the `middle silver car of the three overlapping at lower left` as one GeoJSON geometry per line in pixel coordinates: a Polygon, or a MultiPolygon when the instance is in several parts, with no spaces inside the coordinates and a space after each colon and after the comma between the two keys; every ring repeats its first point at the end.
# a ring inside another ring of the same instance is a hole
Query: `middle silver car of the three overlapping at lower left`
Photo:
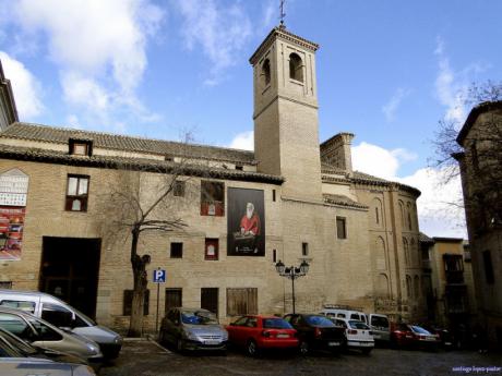
{"type": "Polygon", "coordinates": [[[0,307],[0,327],[33,345],[83,357],[93,366],[103,362],[103,353],[96,342],[61,330],[26,312],[0,307]]]}

